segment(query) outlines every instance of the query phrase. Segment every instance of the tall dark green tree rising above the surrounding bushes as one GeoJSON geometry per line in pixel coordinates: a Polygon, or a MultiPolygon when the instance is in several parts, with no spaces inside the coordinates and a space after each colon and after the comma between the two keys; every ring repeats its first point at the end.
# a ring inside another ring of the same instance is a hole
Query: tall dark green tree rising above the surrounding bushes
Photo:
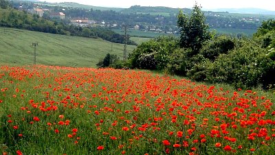
{"type": "Polygon", "coordinates": [[[209,27],[206,25],[206,17],[201,11],[201,6],[196,3],[190,16],[179,11],[177,17],[177,26],[181,34],[180,47],[191,48],[193,55],[197,54],[202,44],[211,38],[209,27]]]}

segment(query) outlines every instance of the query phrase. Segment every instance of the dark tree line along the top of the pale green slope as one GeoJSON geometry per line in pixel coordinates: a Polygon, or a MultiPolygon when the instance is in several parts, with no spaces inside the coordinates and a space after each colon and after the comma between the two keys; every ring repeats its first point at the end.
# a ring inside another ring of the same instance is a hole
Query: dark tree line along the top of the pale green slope
{"type": "MultiPolygon", "coordinates": [[[[10,8],[8,1],[0,0],[0,26],[28,29],[36,32],[62,34],[69,36],[83,36],[87,38],[102,38],[113,43],[124,43],[125,36],[103,27],[78,27],[69,25],[66,20],[54,19],[52,21],[40,17],[38,14],[29,14],[10,8]]],[[[136,45],[128,40],[129,45],[136,45]]]]}

